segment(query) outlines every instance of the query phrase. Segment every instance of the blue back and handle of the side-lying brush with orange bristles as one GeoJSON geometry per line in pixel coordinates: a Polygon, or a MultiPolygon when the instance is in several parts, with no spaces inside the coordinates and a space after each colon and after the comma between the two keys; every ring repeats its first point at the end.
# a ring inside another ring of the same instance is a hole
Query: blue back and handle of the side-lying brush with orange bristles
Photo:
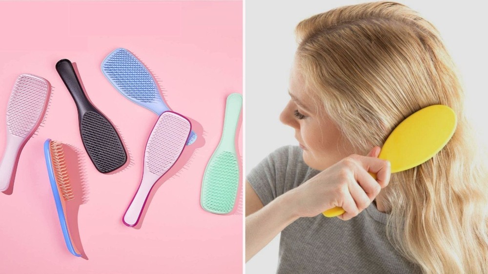
{"type": "Polygon", "coordinates": [[[68,251],[77,257],[81,257],[81,254],[76,253],[75,248],[73,247],[73,243],[71,242],[71,237],[69,236],[68,224],[66,223],[66,218],[64,217],[64,210],[58,191],[58,184],[56,183],[53,163],[51,162],[51,152],[49,149],[50,141],[51,139],[47,139],[44,142],[44,157],[46,158],[47,173],[49,174],[49,181],[51,182],[51,189],[53,190],[54,201],[56,202],[56,209],[58,210],[58,217],[60,219],[62,235],[64,236],[64,241],[66,242],[66,247],[68,248],[68,251]]]}

